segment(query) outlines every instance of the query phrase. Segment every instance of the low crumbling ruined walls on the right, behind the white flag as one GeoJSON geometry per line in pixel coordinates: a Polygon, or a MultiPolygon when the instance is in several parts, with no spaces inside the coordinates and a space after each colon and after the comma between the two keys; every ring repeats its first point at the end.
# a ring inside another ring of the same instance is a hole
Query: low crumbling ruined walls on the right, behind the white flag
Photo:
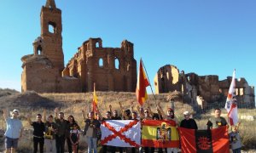
{"type": "MultiPolygon", "coordinates": [[[[229,93],[232,77],[219,81],[218,76],[198,76],[195,73],[185,74],[179,72],[174,65],[160,67],[154,77],[155,93],[181,92],[189,97],[191,103],[204,105],[201,103],[218,101],[223,95],[229,93]]],[[[249,86],[245,78],[236,79],[236,99],[241,103],[254,105],[254,87],[249,86]]]]}

